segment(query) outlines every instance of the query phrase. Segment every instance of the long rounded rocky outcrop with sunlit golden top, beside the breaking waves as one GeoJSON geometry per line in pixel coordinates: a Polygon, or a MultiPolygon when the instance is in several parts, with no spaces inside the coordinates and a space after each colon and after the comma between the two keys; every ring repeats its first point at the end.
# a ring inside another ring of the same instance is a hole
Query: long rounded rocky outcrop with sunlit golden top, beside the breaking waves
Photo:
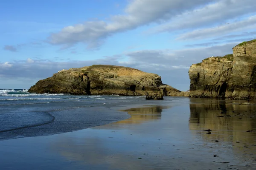
{"type": "Polygon", "coordinates": [[[142,96],[153,92],[161,92],[166,96],[180,94],[177,89],[164,85],[157,74],[113,65],[62,70],[52,77],[38,81],[29,92],[128,96],[142,96]]]}

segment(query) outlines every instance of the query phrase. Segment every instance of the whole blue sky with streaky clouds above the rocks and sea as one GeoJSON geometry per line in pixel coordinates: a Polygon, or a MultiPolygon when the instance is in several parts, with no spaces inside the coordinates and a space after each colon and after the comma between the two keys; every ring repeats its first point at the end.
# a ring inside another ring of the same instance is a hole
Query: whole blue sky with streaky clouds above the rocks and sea
{"type": "Polygon", "coordinates": [[[120,65],[189,89],[189,67],[256,39],[255,0],[1,0],[0,88],[120,65]]]}

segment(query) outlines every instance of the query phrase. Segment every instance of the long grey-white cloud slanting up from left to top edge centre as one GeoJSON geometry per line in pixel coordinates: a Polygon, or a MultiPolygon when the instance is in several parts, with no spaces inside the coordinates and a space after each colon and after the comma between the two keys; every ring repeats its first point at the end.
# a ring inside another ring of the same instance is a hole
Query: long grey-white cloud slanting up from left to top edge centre
{"type": "Polygon", "coordinates": [[[48,42],[71,47],[83,42],[87,48],[98,48],[104,39],[114,33],[137,28],[153,22],[163,22],[192,10],[197,6],[215,0],[133,0],[125,8],[125,15],[115,15],[110,22],[87,21],[75,26],[67,26],[60,32],[51,34],[48,42]]]}

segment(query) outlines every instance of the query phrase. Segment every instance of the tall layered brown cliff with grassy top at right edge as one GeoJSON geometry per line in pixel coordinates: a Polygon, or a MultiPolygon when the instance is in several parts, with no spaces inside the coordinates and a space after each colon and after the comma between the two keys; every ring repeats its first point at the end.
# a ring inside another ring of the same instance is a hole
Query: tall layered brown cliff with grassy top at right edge
{"type": "Polygon", "coordinates": [[[233,48],[233,54],[209,57],[189,69],[192,97],[256,99],[256,40],[233,48]]]}

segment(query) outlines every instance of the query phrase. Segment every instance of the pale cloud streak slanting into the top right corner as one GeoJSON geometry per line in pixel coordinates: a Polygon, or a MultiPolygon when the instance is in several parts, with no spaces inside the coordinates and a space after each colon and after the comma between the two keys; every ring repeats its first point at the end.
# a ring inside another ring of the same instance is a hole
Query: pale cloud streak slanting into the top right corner
{"type": "Polygon", "coordinates": [[[167,23],[151,28],[147,32],[177,31],[180,29],[225,25],[231,20],[255,12],[254,0],[219,0],[201,8],[186,11],[167,23]],[[241,8],[242,6],[242,8],[241,8]]]}

